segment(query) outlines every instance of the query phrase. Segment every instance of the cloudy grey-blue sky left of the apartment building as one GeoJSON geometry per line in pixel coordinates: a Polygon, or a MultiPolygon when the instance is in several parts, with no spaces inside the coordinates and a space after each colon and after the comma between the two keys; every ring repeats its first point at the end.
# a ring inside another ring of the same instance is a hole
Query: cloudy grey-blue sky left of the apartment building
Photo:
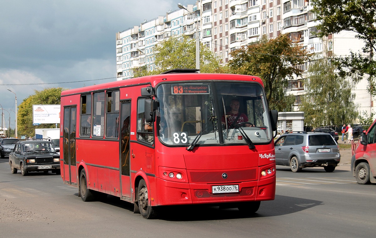
{"type": "MultiPolygon", "coordinates": [[[[169,10],[174,11],[178,9],[177,3],[186,6],[194,2],[2,1],[0,107],[15,111],[15,95],[7,89],[16,93],[19,105],[34,94],[34,90],[50,87],[70,89],[115,81],[116,33],[139,26],[145,19],[152,20],[169,10]],[[111,79],[98,80],[101,78],[111,79]],[[73,81],[77,83],[67,83],[73,81]]],[[[15,113],[8,111],[11,113],[11,128],[14,128],[15,113]]],[[[6,111],[4,114],[8,125],[9,114],[6,111]]]]}

